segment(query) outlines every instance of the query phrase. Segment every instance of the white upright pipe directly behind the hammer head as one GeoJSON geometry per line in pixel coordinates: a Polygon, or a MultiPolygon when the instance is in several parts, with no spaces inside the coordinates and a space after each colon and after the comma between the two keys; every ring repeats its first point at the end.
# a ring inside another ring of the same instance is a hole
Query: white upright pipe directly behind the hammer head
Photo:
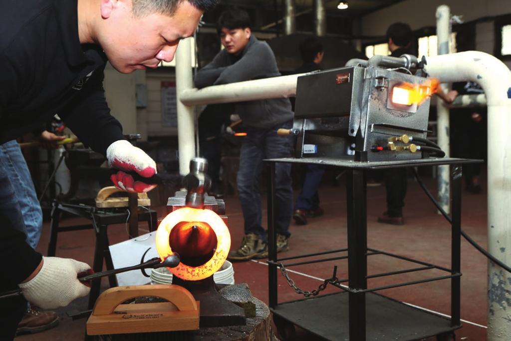
{"type": "Polygon", "coordinates": [[[176,51],[177,143],[179,173],[188,174],[190,160],[195,157],[195,111],[181,103],[183,90],[193,88],[191,38],[179,42],[176,51]]]}

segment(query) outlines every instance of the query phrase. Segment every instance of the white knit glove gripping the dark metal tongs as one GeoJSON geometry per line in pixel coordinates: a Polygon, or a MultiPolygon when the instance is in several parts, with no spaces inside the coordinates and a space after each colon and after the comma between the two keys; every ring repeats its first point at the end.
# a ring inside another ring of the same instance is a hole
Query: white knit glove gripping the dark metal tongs
{"type": "Polygon", "coordinates": [[[43,257],[39,273],[30,281],[20,283],[30,303],[43,309],[64,307],[85,296],[90,288],[78,281],[78,272],[90,269],[85,263],[69,258],[43,257]]]}

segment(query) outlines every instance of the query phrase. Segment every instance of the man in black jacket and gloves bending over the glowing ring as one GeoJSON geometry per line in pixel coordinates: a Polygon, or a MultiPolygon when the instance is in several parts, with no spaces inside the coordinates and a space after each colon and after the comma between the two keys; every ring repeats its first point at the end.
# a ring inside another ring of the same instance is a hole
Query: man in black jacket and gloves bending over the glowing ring
{"type": "MultiPolygon", "coordinates": [[[[124,139],[103,89],[106,62],[122,73],[171,61],[180,39],[193,35],[203,11],[218,0],[3,0],[0,2],[0,144],[58,113],[67,127],[111,167],[149,177],[154,161],[124,139]]],[[[112,175],[130,192],[154,185],[125,172],[112,175]]],[[[0,292],[21,288],[23,297],[0,304],[0,339],[14,337],[27,301],[65,306],[86,295],[77,279],[89,266],[42,257],[25,241],[13,186],[0,165],[0,292]],[[25,300],[26,299],[26,300],[25,300]]]]}

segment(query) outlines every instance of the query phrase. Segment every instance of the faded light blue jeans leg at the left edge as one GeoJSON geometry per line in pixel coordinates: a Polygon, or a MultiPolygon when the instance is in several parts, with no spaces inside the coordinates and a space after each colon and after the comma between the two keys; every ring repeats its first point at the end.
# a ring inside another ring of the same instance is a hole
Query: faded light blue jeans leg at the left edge
{"type": "Polygon", "coordinates": [[[27,162],[15,140],[0,145],[0,163],[4,166],[5,175],[10,180],[15,200],[19,204],[25,222],[27,243],[35,249],[41,236],[42,211],[27,162]]]}

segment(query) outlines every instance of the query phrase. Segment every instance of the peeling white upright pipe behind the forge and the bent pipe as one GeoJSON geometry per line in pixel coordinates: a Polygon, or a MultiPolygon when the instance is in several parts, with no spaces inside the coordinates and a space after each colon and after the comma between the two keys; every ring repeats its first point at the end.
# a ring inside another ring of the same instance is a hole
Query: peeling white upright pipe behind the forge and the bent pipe
{"type": "MultiPolygon", "coordinates": [[[[436,37],[438,55],[449,53],[449,39],[451,36],[451,11],[449,6],[442,5],[436,9],[436,37]]],[[[449,91],[448,84],[441,84],[444,93],[449,91]]],[[[449,108],[442,100],[436,101],[436,126],[437,143],[450,156],[450,127],[449,127],[449,108]]],[[[438,166],[438,203],[449,213],[450,203],[449,194],[451,188],[450,167],[448,165],[438,166]]]]}

